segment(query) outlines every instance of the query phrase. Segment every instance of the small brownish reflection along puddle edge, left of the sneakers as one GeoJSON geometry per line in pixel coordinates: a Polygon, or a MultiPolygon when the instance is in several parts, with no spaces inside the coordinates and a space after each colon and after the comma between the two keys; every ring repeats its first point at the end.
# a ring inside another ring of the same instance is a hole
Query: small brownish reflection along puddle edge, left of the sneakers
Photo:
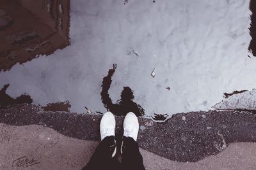
{"type": "Polygon", "coordinates": [[[69,101],[58,102],[58,103],[49,103],[46,106],[42,107],[44,111],[67,111],[70,112],[71,104],[69,101]]]}

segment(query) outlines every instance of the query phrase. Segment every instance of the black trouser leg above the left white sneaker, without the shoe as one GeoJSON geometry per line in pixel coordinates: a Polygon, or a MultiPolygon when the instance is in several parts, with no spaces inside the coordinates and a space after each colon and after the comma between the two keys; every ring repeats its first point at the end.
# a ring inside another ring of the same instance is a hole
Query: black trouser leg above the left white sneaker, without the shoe
{"type": "Polygon", "coordinates": [[[83,170],[112,170],[118,167],[118,162],[112,158],[115,150],[115,136],[108,136],[100,141],[90,161],[83,170]]]}

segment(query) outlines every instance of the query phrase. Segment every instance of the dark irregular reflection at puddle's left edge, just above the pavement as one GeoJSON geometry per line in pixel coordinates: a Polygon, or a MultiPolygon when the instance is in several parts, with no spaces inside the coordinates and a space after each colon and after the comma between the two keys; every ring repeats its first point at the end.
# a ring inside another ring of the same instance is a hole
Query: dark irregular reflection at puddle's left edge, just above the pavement
{"type": "Polygon", "coordinates": [[[0,90],[0,107],[5,107],[10,104],[22,104],[22,103],[28,103],[31,104],[33,100],[30,96],[26,94],[22,94],[21,96],[13,99],[8,94],[6,94],[6,89],[8,89],[8,85],[4,85],[3,89],[0,90]]]}

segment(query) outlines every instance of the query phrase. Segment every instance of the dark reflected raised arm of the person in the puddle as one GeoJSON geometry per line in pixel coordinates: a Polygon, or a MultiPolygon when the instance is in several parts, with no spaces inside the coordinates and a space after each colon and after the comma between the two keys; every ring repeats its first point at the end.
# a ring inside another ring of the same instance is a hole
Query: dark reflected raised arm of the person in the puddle
{"type": "Polygon", "coordinates": [[[113,104],[112,100],[109,97],[108,90],[110,88],[110,85],[112,82],[111,78],[112,78],[113,74],[115,73],[115,69],[116,69],[116,64],[113,64],[113,69],[109,69],[108,76],[103,78],[102,85],[101,85],[102,91],[100,93],[100,96],[102,99],[102,103],[104,104],[105,108],[107,108],[107,109],[113,104]]]}

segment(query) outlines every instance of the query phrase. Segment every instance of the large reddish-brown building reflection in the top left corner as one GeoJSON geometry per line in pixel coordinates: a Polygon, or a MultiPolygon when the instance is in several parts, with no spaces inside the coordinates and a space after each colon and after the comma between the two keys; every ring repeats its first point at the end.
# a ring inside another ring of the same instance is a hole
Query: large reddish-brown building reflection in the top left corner
{"type": "Polygon", "coordinates": [[[0,71],[70,45],[70,0],[0,1],[0,71]]]}

